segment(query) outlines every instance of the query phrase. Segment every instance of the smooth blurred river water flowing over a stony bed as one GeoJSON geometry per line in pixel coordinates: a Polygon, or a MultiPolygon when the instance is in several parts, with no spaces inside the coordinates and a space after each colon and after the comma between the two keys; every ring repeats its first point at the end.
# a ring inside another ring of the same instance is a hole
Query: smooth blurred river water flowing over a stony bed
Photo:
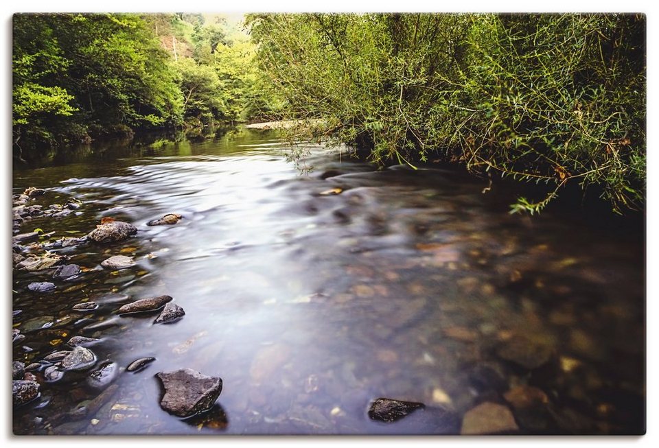
{"type": "MultiPolygon", "coordinates": [[[[14,270],[25,339],[12,360],[41,362],[41,396],[14,409],[15,434],[459,433],[485,402],[513,412],[507,432],[643,432],[643,225],[509,215],[513,196],[482,193],[482,180],[378,170],[321,146],[301,174],[285,149],[276,134],[241,130],[14,171],[14,193],[47,189],[30,203],[82,201],[21,232],[78,237],[106,216],[139,229],[53,250],[84,268],[73,282],[14,270]],[[183,219],[146,226],[165,213],[183,219]],[[102,268],[111,255],[137,264],[102,268]],[[34,281],[56,290],[30,292],[34,281]],[[178,322],[116,314],[162,294],[185,309],[178,322]],[[88,300],[100,307],[71,309],[88,300]],[[108,323],[89,328],[97,322],[108,323]],[[43,379],[43,358],[74,335],[100,339],[91,350],[97,366],[116,364],[111,386],[93,387],[89,370],[43,379]],[[141,357],[156,360],[125,370],[141,357]],[[161,409],[154,375],[178,368],[222,378],[211,411],[184,420],[161,409]],[[367,414],[378,397],[427,408],[381,423],[367,414]],[[432,418],[438,409],[457,423],[432,418]]],[[[505,420],[481,409],[466,432],[505,420]]]]}

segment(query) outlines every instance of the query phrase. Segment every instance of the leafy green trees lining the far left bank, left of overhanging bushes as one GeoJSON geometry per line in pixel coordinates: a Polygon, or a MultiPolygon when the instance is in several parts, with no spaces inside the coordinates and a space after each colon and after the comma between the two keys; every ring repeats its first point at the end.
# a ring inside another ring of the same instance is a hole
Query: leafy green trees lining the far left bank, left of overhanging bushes
{"type": "Polygon", "coordinates": [[[267,115],[248,35],[201,14],[16,14],[14,154],[267,115]]]}

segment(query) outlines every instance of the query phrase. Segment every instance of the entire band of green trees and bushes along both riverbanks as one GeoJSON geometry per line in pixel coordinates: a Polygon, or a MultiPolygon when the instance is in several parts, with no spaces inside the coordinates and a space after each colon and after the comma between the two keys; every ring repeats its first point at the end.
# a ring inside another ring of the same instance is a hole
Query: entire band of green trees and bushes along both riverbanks
{"type": "Polygon", "coordinates": [[[380,164],[459,163],[645,207],[645,16],[16,14],[14,154],[143,130],[299,122],[380,164]],[[248,31],[247,31],[248,30],[248,31]]]}

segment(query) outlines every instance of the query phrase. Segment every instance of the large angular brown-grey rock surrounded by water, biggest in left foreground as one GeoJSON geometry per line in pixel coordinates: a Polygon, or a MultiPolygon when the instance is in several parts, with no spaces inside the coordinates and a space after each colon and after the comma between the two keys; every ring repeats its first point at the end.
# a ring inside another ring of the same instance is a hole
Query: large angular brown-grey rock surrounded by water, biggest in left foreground
{"type": "Polygon", "coordinates": [[[211,408],[222,392],[222,379],[207,377],[191,368],[158,373],[165,395],[161,407],[179,417],[189,417],[211,408]]]}

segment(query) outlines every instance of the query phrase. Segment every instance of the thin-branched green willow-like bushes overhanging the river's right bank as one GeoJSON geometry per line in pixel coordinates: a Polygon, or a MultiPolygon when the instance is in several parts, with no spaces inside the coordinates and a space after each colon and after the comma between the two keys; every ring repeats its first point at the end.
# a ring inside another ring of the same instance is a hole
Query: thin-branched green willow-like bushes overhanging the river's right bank
{"type": "Polygon", "coordinates": [[[254,14],[294,137],[645,202],[645,16],[254,14]]]}

